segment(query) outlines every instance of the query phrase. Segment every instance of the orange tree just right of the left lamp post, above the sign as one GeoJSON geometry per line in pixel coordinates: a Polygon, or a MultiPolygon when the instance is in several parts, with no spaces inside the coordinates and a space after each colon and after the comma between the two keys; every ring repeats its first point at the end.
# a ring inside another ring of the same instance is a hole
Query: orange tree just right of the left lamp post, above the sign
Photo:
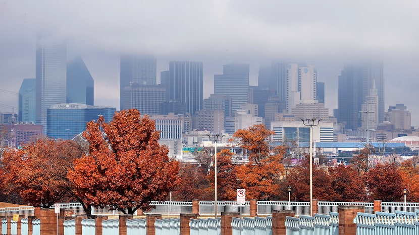
{"type": "Polygon", "coordinates": [[[277,147],[271,154],[267,139],[274,133],[265,125],[258,124],[240,129],[233,135],[249,155],[249,163],[238,166],[236,176],[239,187],[246,189],[246,196],[250,199],[276,198],[280,192],[285,147],[277,147]]]}

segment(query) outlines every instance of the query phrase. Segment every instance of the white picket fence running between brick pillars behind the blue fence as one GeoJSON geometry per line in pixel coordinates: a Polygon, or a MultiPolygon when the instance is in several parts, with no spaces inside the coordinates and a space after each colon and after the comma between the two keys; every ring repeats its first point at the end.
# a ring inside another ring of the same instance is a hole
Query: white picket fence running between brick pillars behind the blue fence
{"type": "MultiPolygon", "coordinates": [[[[144,212],[144,214],[162,214],[162,215],[179,215],[181,213],[192,213],[192,202],[158,202],[150,203],[155,208],[144,212]]],[[[340,205],[362,205],[365,207],[365,213],[374,213],[374,203],[372,202],[318,202],[318,213],[329,214],[329,212],[338,212],[340,205]]],[[[62,203],[61,208],[74,210],[75,214],[84,214],[83,207],[80,203],[62,203]]],[[[410,211],[419,210],[417,202],[382,202],[382,212],[394,213],[394,211],[410,211]]],[[[199,202],[199,214],[202,216],[214,215],[214,201],[199,202]]],[[[257,201],[257,214],[261,216],[272,215],[273,210],[293,210],[295,215],[309,215],[309,202],[288,202],[288,201],[257,201]]],[[[217,202],[217,214],[221,212],[241,212],[244,216],[250,215],[250,202],[246,202],[244,207],[238,207],[235,201],[217,202]]],[[[34,207],[8,207],[0,208],[0,216],[12,216],[14,214],[23,215],[23,217],[33,216],[34,207]]],[[[92,215],[120,215],[123,212],[115,210],[112,207],[93,207],[92,215]]],[[[134,214],[136,215],[136,214],[134,214]]]]}

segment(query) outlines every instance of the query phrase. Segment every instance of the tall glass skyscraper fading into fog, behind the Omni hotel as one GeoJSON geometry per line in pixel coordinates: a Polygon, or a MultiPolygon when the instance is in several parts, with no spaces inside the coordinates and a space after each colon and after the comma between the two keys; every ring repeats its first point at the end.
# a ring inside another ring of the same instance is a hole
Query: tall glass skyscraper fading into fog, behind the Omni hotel
{"type": "Polygon", "coordinates": [[[46,35],[36,44],[36,124],[47,130],[46,110],[67,101],[67,48],[46,35]]]}

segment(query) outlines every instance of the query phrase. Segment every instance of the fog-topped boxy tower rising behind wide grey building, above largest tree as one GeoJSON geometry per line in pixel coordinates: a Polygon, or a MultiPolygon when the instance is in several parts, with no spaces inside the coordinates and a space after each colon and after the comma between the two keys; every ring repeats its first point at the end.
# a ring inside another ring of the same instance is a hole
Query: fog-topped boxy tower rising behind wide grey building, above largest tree
{"type": "Polygon", "coordinates": [[[121,55],[120,66],[120,96],[121,110],[130,109],[128,104],[124,104],[124,92],[131,84],[141,86],[156,85],[156,59],[151,55],[121,55]]]}

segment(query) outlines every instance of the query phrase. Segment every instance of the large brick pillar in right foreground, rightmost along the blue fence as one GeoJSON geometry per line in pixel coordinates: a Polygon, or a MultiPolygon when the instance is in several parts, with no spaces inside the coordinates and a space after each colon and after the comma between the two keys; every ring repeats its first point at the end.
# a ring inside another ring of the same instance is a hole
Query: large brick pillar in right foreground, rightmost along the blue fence
{"type": "Polygon", "coordinates": [[[339,206],[339,235],[356,235],[353,219],[357,212],[364,212],[364,206],[339,206]]]}

